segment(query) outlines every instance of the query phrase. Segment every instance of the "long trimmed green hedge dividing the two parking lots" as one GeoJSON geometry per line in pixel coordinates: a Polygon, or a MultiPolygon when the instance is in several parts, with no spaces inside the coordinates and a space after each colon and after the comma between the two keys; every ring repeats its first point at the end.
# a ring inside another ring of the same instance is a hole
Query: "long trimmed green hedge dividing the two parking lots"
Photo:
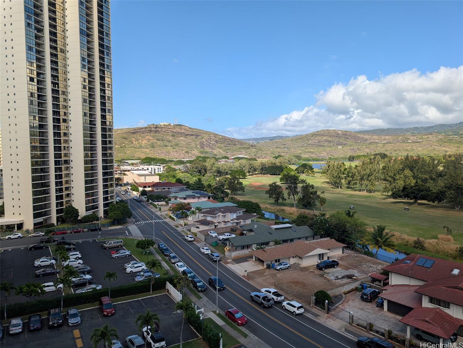
{"type": "MultiPolygon", "coordinates": [[[[156,278],[153,282],[153,290],[160,290],[166,287],[166,282],[172,283],[173,277],[171,275],[156,278]]],[[[63,307],[73,307],[76,305],[85,305],[87,303],[97,302],[100,297],[108,295],[109,288],[90,291],[88,293],[73,293],[64,295],[63,307]]],[[[138,283],[131,283],[111,287],[111,296],[113,299],[118,297],[136,295],[138,293],[149,293],[150,282],[140,281],[138,283]]],[[[57,308],[61,306],[61,296],[56,296],[50,299],[36,299],[28,302],[13,303],[6,306],[6,314],[9,318],[22,317],[28,314],[39,312],[46,312],[49,308],[57,308]]],[[[4,306],[0,308],[1,319],[4,318],[4,306]]]]}

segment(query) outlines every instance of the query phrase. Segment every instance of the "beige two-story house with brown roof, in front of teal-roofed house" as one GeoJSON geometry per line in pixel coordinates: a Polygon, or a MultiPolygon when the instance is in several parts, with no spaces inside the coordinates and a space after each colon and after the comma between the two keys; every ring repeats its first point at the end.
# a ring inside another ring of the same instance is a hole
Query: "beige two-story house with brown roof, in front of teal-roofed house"
{"type": "Polygon", "coordinates": [[[203,210],[198,213],[198,224],[200,231],[226,226],[246,225],[251,219],[257,218],[257,214],[244,213],[246,209],[233,206],[224,206],[203,210]]]}

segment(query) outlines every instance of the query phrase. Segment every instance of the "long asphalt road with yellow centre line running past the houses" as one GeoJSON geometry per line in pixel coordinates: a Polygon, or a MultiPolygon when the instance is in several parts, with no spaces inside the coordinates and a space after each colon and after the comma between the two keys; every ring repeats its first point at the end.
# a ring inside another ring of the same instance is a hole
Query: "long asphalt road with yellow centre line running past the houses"
{"type": "MultiPolygon", "coordinates": [[[[119,195],[127,201],[126,195],[119,195]]],[[[184,262],[203,281],[211,275],[216,275],[217,264],[211,262],[206,255],[199,251],[199,247],[188,243],[183,234],[176,230],[161,216],[153,212],[146,203],[138,203],[130,199],[133,218],[139,222],[138,230],[147,238],[154,238],[156,242],[162,241],[172,252],[184,262]],[[154,222],[153,222],[154,220],[154,222]],[[140,223],[141,221],[149,221],[140,223]]],[[[354,340],[344,336],[337,330],[332,330],[308,315],[293,316],[289,311],[283,310],[280,304],[273,308],[261,308],[250,302],[249,295],[258,289],[250,285],[242,277],[219,263],[219,278],[225,284],[225,290],[219,292],[219,308],[222,311],[235,307],[248,318],[246,329],[251,331],[271,347],[278,348],[344,348],[356,347],[354,340]]],[[[213,303],[216,302],[216,293],[208,287],[202,293],[213,303]]]]}

